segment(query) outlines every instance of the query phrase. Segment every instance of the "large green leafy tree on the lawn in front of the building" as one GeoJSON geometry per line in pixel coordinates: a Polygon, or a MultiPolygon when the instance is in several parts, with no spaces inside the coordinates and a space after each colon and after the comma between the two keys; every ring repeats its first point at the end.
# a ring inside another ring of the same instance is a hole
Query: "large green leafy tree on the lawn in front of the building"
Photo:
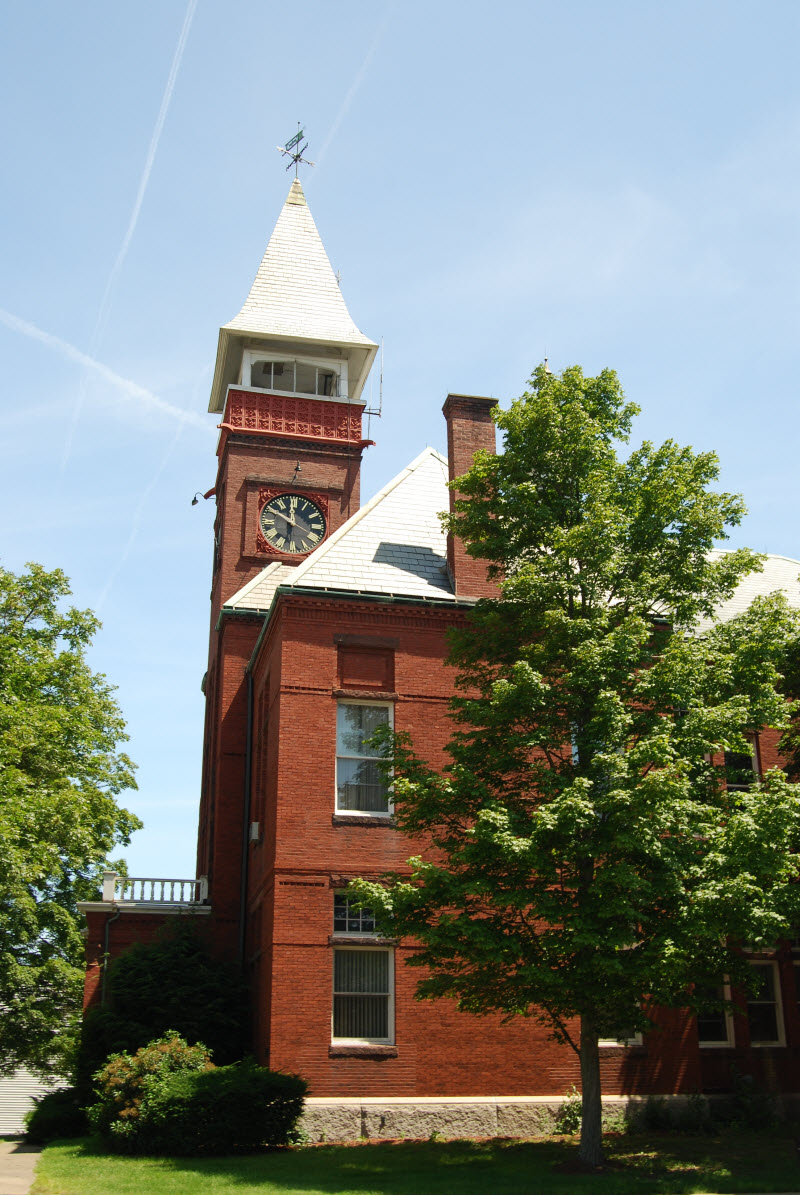
{"type": "Polygon", "coordinates": [[[795,786],[775,771],[728,791],[709,762],[786,725],[795,617],[771,596],[695,632],[759,557],[709,558],[744,513],[709,490],[713,454],[619,458],[635,413],[610,370],[539,368],[496,415],[505,451],[477,455],[445,516],[500,587],[452,633],[451,762],[384,736],[397,827],[430,850],[354,885],[419,942],[420,997],[536,1018],[575,1049],[590,1165],[598,1042],[743,978],[735,940],[774,942],[800,903],[795,786]]]}

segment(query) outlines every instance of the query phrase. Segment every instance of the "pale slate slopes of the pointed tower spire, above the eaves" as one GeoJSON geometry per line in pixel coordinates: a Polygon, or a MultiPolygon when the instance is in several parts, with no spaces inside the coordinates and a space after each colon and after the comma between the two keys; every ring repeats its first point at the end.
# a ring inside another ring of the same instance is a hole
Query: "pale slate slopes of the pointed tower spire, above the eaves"
{"type": "Polygon", "coordinates": [[[292,183],[244,307],[224,326],[374,347],[347,310],[299,179],[292,183]]]}

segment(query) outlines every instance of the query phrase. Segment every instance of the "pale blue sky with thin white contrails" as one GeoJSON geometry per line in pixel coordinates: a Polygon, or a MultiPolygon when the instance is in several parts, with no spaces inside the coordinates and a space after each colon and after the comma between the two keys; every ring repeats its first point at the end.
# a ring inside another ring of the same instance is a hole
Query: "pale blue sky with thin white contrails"
{"type": "MultiPolygon", "coordinates": [[[[611,366],[636,434],[715,449],[734,544],[800,558],[795,0],[6,5],[0,559],[103,618],[146,822],[194,875],[216,331],[289,177],[384,338],[368,497],[448,391],[611,366]]],[[[377,379],[375,379],[377,386],[377,379]]],[[[375,396],[377,397],[377,396],[375,396]]]]}

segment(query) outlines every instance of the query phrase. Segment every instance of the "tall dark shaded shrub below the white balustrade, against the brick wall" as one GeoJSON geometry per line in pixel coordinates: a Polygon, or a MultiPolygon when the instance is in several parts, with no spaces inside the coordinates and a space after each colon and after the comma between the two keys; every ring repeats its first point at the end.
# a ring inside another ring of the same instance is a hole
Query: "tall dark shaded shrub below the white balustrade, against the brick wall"
{"type": "Polygon", "coordinates": [[[84,1021],[75,1072],[83,1098],[90,1101],[93,1076],[110,1055],[134,1054],[169,1030],[190,1044],[204,1042],[221,1065],[243,1058],[249,1044],[246,988],[238,969],[212,957],[185,923],[112,962],[105,1004],[84,1021]]]}

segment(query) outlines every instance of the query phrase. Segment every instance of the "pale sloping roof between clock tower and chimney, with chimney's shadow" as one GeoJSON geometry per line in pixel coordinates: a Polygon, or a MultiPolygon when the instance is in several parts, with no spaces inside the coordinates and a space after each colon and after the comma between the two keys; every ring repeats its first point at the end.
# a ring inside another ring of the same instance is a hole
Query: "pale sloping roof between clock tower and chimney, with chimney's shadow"
{"type": "Polygon", "coordinates": [[[426,448],[297,568],[269,564],[224,609],[267,611],[279,586],[456,601],[447,575],[447,461],[426,448]]]}

